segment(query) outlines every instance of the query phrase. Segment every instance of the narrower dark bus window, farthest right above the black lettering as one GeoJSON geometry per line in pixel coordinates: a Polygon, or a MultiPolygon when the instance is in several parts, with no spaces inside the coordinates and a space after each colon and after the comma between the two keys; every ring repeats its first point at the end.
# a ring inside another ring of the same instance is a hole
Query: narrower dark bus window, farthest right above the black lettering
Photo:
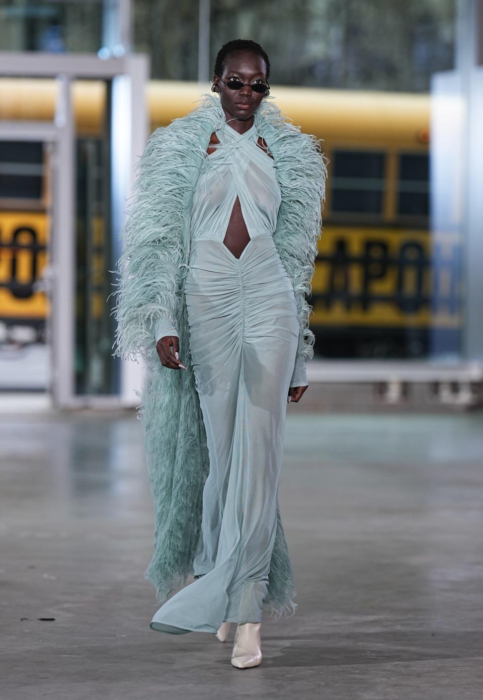
{"type": "Polygon", "coordinates": [[[427,153],[401,153],[399,158],[398,215],[428,216],[429,158],[427,153]]]}

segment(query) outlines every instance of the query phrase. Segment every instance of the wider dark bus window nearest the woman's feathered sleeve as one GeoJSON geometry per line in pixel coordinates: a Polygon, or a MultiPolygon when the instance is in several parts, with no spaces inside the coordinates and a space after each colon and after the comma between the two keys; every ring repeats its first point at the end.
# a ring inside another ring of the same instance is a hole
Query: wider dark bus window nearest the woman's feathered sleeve
{"type": "Polygon", "coordinates": [[[333,151],[332,213],[382,216],[384,153],[333,151]]]}

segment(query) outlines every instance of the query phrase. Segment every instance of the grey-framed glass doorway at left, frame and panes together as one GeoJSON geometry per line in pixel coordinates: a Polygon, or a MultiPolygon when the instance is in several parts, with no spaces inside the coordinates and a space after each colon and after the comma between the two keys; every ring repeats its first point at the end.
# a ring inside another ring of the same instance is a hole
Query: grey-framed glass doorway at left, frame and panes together
{"type": "Polygon", "coordinates": [[[137,405],[144,372],[112,357],[108,297],[146,145],[148,60],[0,51],[0,64],[0,391],[137,405]]]}

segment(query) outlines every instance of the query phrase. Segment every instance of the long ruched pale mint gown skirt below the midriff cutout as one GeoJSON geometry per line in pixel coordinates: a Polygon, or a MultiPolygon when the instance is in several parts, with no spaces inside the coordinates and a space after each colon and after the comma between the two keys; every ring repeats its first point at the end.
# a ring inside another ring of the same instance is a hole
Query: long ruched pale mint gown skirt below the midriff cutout
{"type": "Polygon", "coordinates": [[[174,634],[262,619],[299,333],[272,236],[253,237],[240,258],[221,241],[195,239],[189,267],[190,351],[210,469],[192,570],[201,577],[151,622],[174,634]]]}

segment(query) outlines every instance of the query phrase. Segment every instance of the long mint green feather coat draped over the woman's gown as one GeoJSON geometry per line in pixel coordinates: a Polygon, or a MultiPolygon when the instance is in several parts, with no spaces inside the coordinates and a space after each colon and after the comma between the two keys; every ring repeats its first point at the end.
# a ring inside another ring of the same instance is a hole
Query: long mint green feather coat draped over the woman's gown
{"type": "MultiPolygon", "coordinates": [[[[164,603],[193,573],[209,473],[206,433],[190,358],[184,279],[190,254],[190,208],[211,134],[225,117],[219,97],[206,94],[188,116],[155,130],[137,163],[134,194],[121,235],[116,290],[116,354],[140,356],[146,384],[139,414],[155,506],[154,554],[145,577],[164,603]],[[179,332],[188,371],[161,365],[155,324],[170,321],[179,332]]],[[[300,325],[297,357],[313,356],[309,330],[311,278],[327,174],[319,141],[302,134],[265,99],[255,113],[281,188],[274,243],[293,283],[300,325]]],[[[277,511],[277,528],[265,603],[280,617],[295,612],[293,569],[277,511]]]]}

